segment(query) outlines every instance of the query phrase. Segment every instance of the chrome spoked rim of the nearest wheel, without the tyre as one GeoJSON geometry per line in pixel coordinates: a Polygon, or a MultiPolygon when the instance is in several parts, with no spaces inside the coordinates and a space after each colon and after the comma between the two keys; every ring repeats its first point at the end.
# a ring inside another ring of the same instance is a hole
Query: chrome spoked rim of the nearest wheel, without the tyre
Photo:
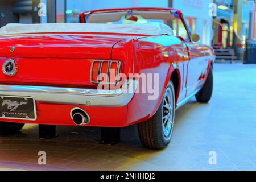
{"type": "Polygon", "coordinates": [[[174,119],[174,96],[172,95],[171,88],[167,88],[163,100],[163,132],[165,137],[170,137],[172,130],[172,122],[174,119]]]}

